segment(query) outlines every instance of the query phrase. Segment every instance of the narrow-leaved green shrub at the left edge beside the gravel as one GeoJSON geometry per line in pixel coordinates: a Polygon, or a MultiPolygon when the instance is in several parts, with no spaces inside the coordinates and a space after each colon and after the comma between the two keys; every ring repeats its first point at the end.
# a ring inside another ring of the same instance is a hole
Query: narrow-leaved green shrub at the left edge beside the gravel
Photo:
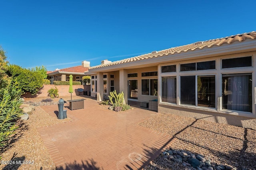
{"type": "Polygon", "coordinates": [[[18,129],[16,123],[22,115],[20,93],[10,92],[12,90],[10,86],[0,90],[0,147],[8,145],[9,139],[18,129]]]}

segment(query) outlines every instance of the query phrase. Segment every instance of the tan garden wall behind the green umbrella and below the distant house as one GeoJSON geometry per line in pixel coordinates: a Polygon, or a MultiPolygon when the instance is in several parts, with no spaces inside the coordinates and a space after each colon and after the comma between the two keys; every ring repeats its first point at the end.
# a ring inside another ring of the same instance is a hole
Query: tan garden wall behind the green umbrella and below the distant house
{"type": "MultiPolygon", "coordinates": [[[[51,88],[57,88],[59,96],[70,96],[70,93],[68,92],[69,85],[54,85],[54,84],[44,84],[44,87],[39,92],[39,94],[31,95],[30,93],[23,94],[22,96],[24,98],[35,98],[35,97],[47,97],[48,96],[48,90],[51,88]]],[[[83,95],[83,92],[78,92],[77,89],[82,88],[84,91],[90,91],[90,85],[73,85],[73,93],[72,95],[83,95]]]]}

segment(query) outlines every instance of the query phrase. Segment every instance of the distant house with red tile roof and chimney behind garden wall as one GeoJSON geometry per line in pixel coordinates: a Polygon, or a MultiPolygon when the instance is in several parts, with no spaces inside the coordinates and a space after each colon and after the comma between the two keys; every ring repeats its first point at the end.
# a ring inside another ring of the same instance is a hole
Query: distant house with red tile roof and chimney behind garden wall
{"type": "Polygon", "coordinates": [[[79,81],[83,84],[82,77],[85,76],[84,72],[88,71],[90,67],[89,61],[82,61],[81,66],[74,66],[63,69],[56,69],[55,71],[47,71],[47,79],[51,81],[69,81],[69,76],[72,74],[73,81],[79,81]]]}

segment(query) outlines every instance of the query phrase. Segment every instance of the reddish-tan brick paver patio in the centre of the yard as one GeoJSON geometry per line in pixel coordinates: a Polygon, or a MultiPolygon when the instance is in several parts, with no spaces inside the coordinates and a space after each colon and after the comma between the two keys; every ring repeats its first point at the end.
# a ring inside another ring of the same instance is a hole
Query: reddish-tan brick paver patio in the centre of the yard
{"type": "MultiPolygon", "coordinates": [[[[169,135],[137,125],[155,116],[154,111],[113,112],[91,99],[84,105],[85,109],[66,108],[72,121],[38,129],[60,170],[141,169],[173,142],[169,135]]],[[[42,108],[52,116],[58,111],[55,105],[42,108]]]]}

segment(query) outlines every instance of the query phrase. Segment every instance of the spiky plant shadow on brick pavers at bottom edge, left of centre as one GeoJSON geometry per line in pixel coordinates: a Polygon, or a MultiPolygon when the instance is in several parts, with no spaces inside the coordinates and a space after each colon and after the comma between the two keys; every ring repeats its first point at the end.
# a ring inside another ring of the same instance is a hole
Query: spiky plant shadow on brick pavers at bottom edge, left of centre
{"type": "Polygon", "coordinates": [[[73,162],[72,164],[65,164],[64,166],[58,166],[56,170],[104,170],[98,167],[93,159],[82,160],[82,163],[73,162]]]}

